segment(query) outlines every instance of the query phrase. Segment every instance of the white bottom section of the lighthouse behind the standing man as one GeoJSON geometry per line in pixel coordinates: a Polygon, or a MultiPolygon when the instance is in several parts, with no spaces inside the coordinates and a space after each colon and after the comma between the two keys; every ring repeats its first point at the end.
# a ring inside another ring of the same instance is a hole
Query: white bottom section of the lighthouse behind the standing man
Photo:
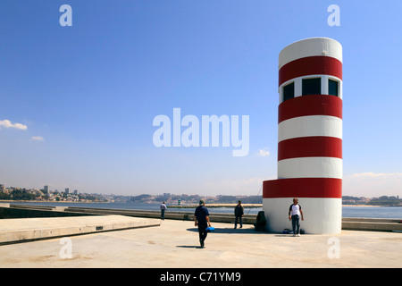
{"type": "MultiPolygon", "coordinates": [[[[291,229],[289,206],[293,198],[263,198],[266,228],[272,232],[291,229]]],[[[311,234],[339,234],[342,228],[341,198],[298,198],[304,221],[300,228],[311,234]]]]}

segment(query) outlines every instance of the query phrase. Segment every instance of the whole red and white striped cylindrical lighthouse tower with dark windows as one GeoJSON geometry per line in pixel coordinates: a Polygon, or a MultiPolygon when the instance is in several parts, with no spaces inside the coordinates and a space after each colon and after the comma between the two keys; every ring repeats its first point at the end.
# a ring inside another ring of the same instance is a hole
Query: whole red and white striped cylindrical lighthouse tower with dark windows
{"type": "Polygon", "coordinates": [[[290,228],[298,198],[306,233],[340,233],[342,220],[342,46],[307,38],[279,55],[278,180],[264,181],[270,231],[290,228]]]}

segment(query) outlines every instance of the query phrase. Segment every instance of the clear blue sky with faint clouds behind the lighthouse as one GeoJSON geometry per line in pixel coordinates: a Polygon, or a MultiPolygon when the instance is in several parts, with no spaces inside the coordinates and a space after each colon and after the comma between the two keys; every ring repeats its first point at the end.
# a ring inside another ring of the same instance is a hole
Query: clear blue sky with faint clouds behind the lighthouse
{"type": "Polygon", "coordinates": [[[257,195],[277,172],[278,55],[328,37],[343,46],[343,194],[402,197],[401,10],[400,1],[3,0],[0,183],[257,195]],[[59,24],[62,4],[71,27],[59,24]],[[327,23],[331,4],[339,27],[327,23]],[[152,122],[173,108],[248,115],[248,156],[155,147],[152,122]]]}

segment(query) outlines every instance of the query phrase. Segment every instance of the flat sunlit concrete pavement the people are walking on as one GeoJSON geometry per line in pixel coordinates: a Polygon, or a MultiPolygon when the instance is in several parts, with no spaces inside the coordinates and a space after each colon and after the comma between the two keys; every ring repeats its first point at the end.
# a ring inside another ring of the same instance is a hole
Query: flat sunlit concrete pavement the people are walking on
{"type": "MultiPolygon", "coordinates": [[[[137,219],[137,218],[133,218],[137,219]]],[[[148,219],[149,220],[149,219],[148,219]]],[[[401,267],[402,233],[339,235],[256,232],[213,223],[199,248],[193,222],[154,219],[157,227],[97,232],[0,246],[1,267],[401,267]],[[70,252],[69,252],[70,251],[70,252]],[[66,255],[67,254],[67,255],[66,255]],[[70,256],[68,255],[70,254],[70,256]]]]}

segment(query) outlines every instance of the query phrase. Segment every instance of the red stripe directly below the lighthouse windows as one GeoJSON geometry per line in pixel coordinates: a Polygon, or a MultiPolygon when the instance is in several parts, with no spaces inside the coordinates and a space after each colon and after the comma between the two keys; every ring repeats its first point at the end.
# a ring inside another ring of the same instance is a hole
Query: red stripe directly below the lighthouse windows
{"type": "Polygon", "coordinates": [[[335,96],[312,95],[285,100],[279,105],[278,123],[308,115],[330,115],[342,119],[342,99],[335,96]]]}

